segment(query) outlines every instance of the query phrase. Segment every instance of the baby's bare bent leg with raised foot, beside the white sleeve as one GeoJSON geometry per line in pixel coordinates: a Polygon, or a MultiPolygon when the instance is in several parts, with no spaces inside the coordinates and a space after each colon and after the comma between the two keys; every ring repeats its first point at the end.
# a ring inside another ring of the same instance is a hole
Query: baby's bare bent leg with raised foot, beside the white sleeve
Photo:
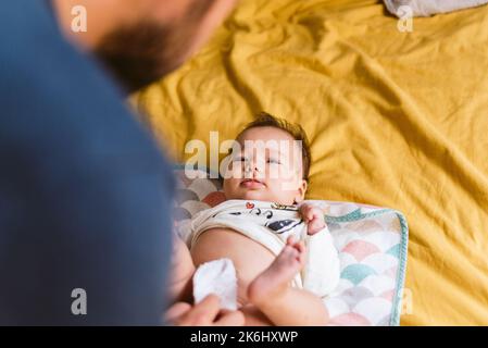
{"type": "Polygon", "coordinates": [[[275,325],[316,326],[328,322],[327,309],[320,297],[289,286],[304,262],[303,244],[288,238],[276,260],[249,285],[249,301],[275,325]]]}

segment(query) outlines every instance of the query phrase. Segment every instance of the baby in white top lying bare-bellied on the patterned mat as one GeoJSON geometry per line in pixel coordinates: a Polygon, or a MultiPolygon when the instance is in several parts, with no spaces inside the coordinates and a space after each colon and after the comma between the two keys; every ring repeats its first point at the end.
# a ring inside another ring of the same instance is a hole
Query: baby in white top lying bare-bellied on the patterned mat
{"type": "Polygon", "coordinates": [[[339,262],[324,211],[302,203],[311,160],[306,136],[300,126],[262,113],[236,140],[223,182],[226,201],[192,219],[189,249],[176,240],[174,299],[191,301],[196,268],[227,258],[237,271],[247,325],[325,325],[321,297],[337,285],[339,262]],[[255,144],[264,144],[263,151],[250,146],[255,144]],[[310,249],[325,260],[315,269],[310,249]]]}

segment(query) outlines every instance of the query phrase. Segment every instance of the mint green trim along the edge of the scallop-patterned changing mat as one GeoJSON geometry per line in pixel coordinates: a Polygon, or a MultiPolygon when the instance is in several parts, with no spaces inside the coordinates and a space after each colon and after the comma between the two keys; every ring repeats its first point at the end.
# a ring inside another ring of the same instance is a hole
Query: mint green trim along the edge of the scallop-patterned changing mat
{"type": "MultiPolygon", "coordinates": [[[[185,170],[185,169],[196,169],[185,164],[174,164],[174,170],[185,170]]],[[[203,172],[211,173],[207,167],[198,167],[198,170],[202,170],[203,172]]],[[[401,236],[400,236],[400,250],[399,250],[399,265],[397,272],[397,281],[396,281],[396,294],[393,296],[392,310],[390,316],[390,326],[399,326],[400,325],[400,315],[401,315],[401,301],[403,297],[403,287],[405,282],[405,272],[406,272],[406,258],[408,258],[408,244],[409,244],[409,225],[406,223],[406,219],[403,214],[393,209],[379,209],[377,211],[373,211],[370,213],[361,213],[361,208],[341,216],[331,216],[324,215],[325,221],[328,223],[345,223],[345,222],[353,222],[363,219],[375,217],[378,215],[393,213],[397,215],[400,227],[401,227],[401,236]]]]}

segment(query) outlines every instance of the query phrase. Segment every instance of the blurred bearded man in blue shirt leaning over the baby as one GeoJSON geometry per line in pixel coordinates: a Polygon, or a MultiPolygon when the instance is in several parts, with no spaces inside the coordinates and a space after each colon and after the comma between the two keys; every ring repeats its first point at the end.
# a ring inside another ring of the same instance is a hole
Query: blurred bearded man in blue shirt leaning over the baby
{"type": "MultiPolygon", "coordinates": [[[[0,11],[0,324],[160,324],[172,169],[124,107],[235,0],[16,0],[0,11]],[[82,5],[87,30],[74,33],[82,5]]],[[[242,324],[218,300],[176,324],[242,324]]]]}

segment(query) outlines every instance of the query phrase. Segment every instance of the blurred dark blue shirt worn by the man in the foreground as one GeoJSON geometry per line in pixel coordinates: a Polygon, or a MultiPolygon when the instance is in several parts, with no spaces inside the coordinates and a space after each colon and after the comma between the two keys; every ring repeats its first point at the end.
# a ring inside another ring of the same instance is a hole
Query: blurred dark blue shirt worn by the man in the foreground
{"type": "Polygon", "coordinates": [[[161,323],[173,186],[121,90],[46,2],[3,2],[0,325],[161,323]],[[77,288],[86,315],[72,311],[77,288]]]}

